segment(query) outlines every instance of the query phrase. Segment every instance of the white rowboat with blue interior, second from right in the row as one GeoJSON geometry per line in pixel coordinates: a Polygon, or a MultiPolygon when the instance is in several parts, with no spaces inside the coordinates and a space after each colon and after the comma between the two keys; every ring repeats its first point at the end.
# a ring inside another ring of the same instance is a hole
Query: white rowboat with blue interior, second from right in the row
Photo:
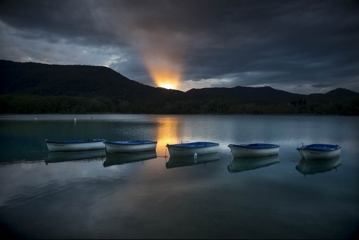
{"type": "Polygon", "coordinates": [[[277,155],[279,153],[279,145],[255,143],[255,144],[230,144],[233,157],[262,157],[277,155]]]}

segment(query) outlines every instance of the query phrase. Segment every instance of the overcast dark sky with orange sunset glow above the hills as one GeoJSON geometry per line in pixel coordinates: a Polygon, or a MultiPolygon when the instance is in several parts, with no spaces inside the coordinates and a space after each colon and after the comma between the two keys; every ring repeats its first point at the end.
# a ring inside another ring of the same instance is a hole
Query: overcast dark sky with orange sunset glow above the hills
{"type": "Polygon", "coordinates": [[[0,59],[151,86],[359,92],[359,1],[0,1],[0,59]]]}

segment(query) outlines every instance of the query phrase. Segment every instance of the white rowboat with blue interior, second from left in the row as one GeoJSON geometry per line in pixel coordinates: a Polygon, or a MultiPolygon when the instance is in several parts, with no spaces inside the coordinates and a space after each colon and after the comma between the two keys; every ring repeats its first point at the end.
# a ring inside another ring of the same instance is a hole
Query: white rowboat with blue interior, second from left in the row
{"type": "Polygon", "coordinates": [[[151,140],[132,140],[121,142],[105,141],[105,146],[106,152],[108,153],[143,152],[155,150],[157,142],[151,140]]]}

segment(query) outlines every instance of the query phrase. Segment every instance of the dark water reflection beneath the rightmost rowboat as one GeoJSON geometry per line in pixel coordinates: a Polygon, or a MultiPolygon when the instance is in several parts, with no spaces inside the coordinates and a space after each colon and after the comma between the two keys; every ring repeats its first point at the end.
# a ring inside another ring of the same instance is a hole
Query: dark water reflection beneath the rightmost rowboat
{"type": "Polygon", "coordinates": [[[295,166],[295,169],[303,175],[327,172],[341,165],[341,158],[328,158],[316,161],[308,161],[304,158],[295,166]]]}

